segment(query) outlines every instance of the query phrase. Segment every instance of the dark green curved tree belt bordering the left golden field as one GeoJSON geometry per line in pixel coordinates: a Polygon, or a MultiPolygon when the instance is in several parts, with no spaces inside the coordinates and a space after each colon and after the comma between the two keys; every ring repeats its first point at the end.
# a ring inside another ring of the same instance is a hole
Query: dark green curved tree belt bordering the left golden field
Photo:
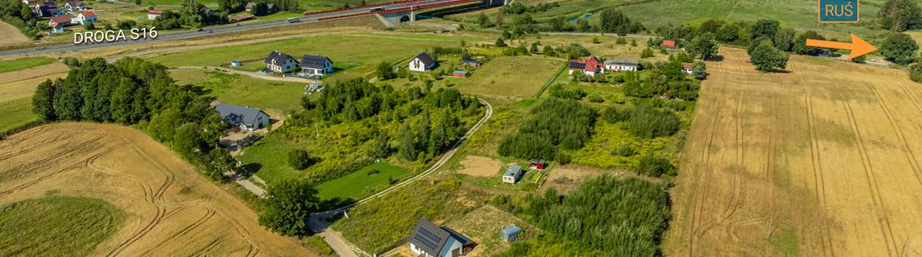
{"type": "Polygon", "coordinates": [[[227,124],[200,88],[176,85],[166,67],[136,58],[69,64],[65,79],[35,90],[32,107],[42,120],[136,124],[212,179],[234,171],[230,153],[218,145],[227,124]]]}

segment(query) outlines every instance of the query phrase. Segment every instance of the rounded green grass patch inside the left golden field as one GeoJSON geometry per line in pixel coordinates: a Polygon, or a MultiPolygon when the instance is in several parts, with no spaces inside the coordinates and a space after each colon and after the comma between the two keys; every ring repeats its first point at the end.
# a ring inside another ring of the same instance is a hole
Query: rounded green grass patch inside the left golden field
{"type": "Polygon", "coordinates": [[[3,256],[86,256],[124,222],[121,210],[87,197],[50,196],[0,209],[3,256]]]}

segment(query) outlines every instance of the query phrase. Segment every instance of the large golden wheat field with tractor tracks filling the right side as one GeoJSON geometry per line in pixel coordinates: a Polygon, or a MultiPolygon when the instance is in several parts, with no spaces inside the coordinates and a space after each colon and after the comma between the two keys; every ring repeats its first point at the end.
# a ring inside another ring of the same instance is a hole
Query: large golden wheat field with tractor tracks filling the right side
{"type": "Polygon", "coordinates": [[[905,71],[745,50],[707,63],[665,251],[922,255],[922,84],[905,71]]]}

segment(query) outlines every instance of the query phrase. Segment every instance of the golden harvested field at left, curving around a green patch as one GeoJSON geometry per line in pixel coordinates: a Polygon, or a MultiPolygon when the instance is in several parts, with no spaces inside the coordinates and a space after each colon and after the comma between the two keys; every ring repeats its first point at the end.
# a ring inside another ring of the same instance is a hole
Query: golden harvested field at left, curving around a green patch
{"type": "Polygon", "coordinates": [[[124,211],[124,226],[89,256],[315,255],[136,129],[63,123],[0,141],[0,206],[47,194],[124,211]]]}

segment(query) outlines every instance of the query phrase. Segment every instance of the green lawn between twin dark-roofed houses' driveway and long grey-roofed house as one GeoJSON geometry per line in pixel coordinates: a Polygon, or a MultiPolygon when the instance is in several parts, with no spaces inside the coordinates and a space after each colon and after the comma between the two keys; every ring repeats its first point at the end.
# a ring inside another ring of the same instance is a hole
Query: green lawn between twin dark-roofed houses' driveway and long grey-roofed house
{"type": "Polygon", "coordinates": [[[209,70],[171,70],[177,84],[195,84],[211,92],[218,101],[237,106],[272,109],[285,114],[301,105],[304,84],[276,82],[233,73],[209,70]]]}

